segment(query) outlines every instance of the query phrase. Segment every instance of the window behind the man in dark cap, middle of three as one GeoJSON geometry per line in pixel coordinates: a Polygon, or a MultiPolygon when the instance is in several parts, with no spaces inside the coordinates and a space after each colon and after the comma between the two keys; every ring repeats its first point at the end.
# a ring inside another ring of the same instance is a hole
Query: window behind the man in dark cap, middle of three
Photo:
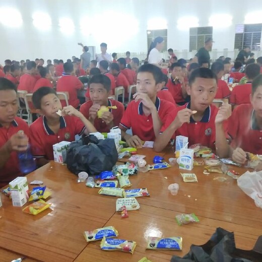
{"type": "Polygon", "coordinates": [[[199,50],[205,45],[205,40],[212,37],[213,27],[191,27],[189,30],[189,52],[199,50]]]}

